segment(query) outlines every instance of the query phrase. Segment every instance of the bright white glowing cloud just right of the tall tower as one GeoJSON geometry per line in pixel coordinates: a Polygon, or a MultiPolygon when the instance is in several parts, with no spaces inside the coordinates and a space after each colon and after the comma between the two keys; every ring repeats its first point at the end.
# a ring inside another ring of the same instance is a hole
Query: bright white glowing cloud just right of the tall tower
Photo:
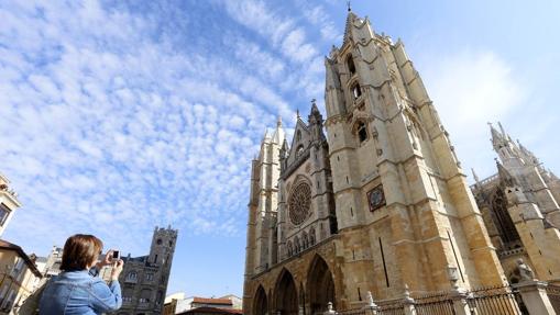
{"type": "Polygon", "coordinates": [[[488,122],[505,121],[527,101],[526,86],[510,66],[488,50],[463,50],[426,58],[421,74],[463,168],[495,171],[488,122]],[[486,148],[484,150],[484,148],[486,148]]]}

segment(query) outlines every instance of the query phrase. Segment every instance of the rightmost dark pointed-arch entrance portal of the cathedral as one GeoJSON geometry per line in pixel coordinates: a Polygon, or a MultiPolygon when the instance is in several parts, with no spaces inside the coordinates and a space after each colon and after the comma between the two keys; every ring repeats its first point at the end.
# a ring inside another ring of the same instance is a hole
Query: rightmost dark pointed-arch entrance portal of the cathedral
{"type": "Polygon", "coordinates": [[[334,299],[334,281],[327,262],[316,256],[309,268],[307,277],[307,288],[309,290],[309,306],[311,315],[322,314],[327,311],[327,303],[332,302],[337,310],[337,301],[334,299]]]}

